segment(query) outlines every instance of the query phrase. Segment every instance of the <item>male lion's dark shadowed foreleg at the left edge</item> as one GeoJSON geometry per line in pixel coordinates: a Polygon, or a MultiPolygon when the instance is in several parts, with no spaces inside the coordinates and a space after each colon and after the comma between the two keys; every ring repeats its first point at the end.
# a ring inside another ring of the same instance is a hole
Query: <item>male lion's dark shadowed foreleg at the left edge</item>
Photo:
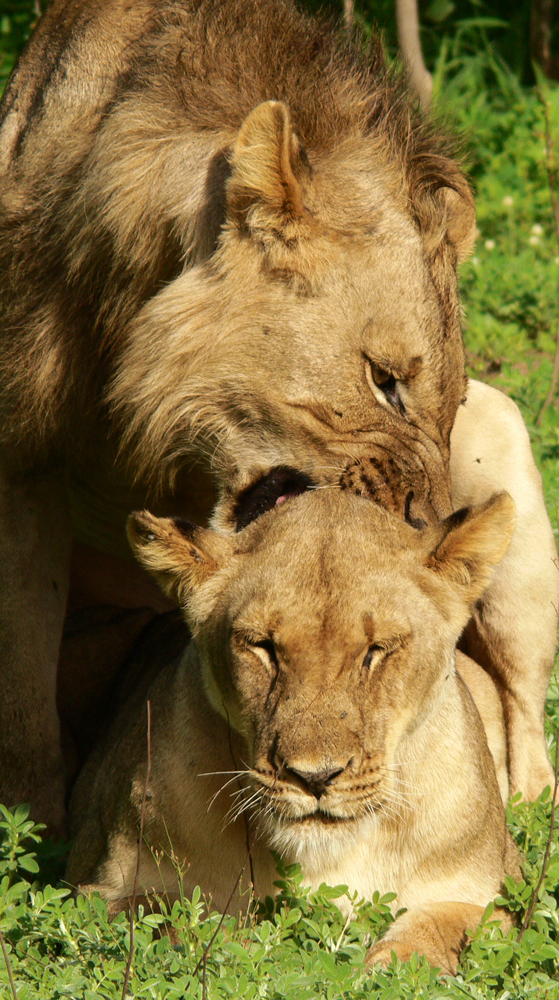
{"type": "Polygon", "coordinates": [[[56,673],[71,531],[63,477],[0,470],[0,801],[64,829],[56,673]]]}

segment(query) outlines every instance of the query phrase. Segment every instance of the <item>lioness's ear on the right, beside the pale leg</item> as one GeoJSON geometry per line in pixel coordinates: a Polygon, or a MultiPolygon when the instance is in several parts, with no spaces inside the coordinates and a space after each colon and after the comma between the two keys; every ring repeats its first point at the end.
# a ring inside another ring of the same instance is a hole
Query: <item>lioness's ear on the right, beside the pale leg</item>
{"type": "Polygon", "coordinates": [[[458,585],[468,604],[486,589],[493,567],[507,551],[516,523],[508,493],[496,493],[479,507],[464,507],[439,526],[439,540],[426,565],[458,585]]]}

